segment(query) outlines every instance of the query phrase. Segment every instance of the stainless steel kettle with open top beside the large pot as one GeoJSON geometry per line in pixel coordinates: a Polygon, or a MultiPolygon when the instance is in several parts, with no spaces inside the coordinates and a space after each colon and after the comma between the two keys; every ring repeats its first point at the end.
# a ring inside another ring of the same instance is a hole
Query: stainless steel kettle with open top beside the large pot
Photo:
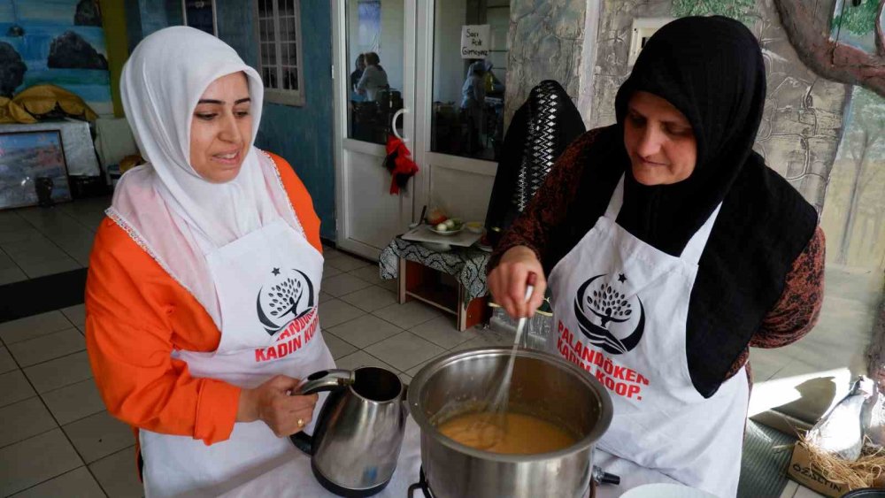
{"type": "Polygon", "coordinates": [[[379,493],[396,470],[403,444],[406,387],[394,372],[377,367],[313,373],[295,395],[330,391],[313,436],[291,436],[311,455],[313,475],[340,496],[379,493]]]}

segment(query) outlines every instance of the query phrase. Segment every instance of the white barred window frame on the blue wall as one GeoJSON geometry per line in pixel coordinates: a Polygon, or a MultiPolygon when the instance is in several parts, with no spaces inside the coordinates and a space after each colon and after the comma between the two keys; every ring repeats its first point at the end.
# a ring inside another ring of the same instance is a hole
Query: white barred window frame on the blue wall
{"type": "MultiPolygon", "coordinates": [[[[264,78],[265,65],[262,60],[262,41],[261,26],[258,19],[258,2],[263,0],[252,0],[252,25],[255,32],[255,42],[258,44],[258,75],[264,78]]],[[[277,81],[282,81],[282,50],[280,41],[280,2],[281,0],[266,0],[273,4],[273,34],[274,34],[274,56],[275,62],[268,69],[272,69],[277,73],[277,81]]],[[[292,0],[295,9],[295,40],[296,43],[296,77],[298,79],[298,89],[286,88],[267,88],[265,87],[265,102],[280,103],[283,105],[293,105],[297,107],[304,106],[304,57],[302,50],[301,36],[301,0],[292,0]]],[[[292,42],[289,40],[289,42],[292,42]]]]}

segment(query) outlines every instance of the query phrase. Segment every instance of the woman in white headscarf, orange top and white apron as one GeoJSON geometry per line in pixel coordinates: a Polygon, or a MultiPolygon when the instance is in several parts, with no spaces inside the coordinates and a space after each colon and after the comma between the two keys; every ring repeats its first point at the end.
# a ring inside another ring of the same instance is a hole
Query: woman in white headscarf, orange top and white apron
{"type": "Polygon", "coordinates": [[[148,164],[96,234],[89,359],[108,411],[135,428],[146,494],[219,494],[312,432],[317,396],[288,394],[335,365],[319,219],[286,161],[252,145],[262,82],[218,38],[151,34],[120,88],[148,164]]]}

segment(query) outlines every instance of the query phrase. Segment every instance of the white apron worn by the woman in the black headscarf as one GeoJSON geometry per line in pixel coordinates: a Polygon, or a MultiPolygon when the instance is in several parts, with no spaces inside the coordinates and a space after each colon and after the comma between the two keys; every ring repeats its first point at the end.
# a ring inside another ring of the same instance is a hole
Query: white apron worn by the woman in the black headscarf
{"type": "Polygon", "coordinates": [[[686,318],[697,263],[719,209],[680,257],[615,223],[624,179],[604,216],[550,272],[548,347],[612,396],[598,447],[690,487],[733,497],[741,471],[749,386],[741,369],[709,399],[689,377],[686,318]]]}

